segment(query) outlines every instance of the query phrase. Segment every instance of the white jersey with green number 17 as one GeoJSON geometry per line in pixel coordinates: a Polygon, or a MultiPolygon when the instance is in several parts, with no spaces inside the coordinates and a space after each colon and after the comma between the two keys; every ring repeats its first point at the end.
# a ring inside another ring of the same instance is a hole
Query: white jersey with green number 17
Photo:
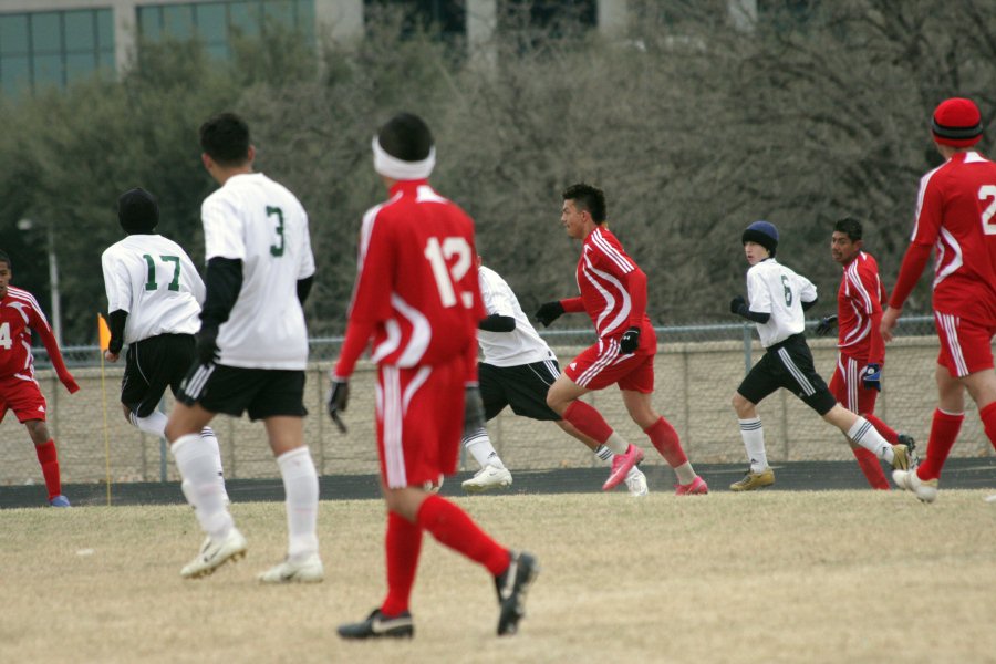
{"type": "Polygon", "coordinates": [[[125,343],[200,329],[204,282],[183,248],[160,235],[131,235],[101,256],[107,312],[126,311],[125,343]]]}

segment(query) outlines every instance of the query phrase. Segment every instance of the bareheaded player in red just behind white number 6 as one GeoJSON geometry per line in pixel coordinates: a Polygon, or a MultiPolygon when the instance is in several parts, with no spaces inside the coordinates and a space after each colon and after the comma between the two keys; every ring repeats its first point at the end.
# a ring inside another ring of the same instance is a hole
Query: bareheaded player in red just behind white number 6
{"type": "MultiPolygon", "coordinates": [[[[885,342],[879,326],[886,298],[879,263],[864,251],[863,236],[861,221],[852,217],[839,219],[833,226],[830,255],[843,267],[843,276],[837,290],[837,315],[822,319],[817,334],[828,334],[838,325],[837,370],[830,378],[830,392],[838,403],[871,422],[892,445],[902,444],[912,450],[912,437],[896,433],[874,415],[885,364],[885,342]]],[[[868,484],[873,489],[889,490],[875,454],[852,440],[850,444],[868,484]]]]}

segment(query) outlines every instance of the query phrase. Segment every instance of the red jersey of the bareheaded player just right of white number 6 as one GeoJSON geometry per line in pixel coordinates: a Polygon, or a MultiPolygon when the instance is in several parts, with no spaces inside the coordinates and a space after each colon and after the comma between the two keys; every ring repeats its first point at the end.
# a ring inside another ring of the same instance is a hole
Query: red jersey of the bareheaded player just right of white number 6
{"type": "Polygon", "coordinates": [[[837,290],[837,347],[864,363],[882,364],[885,344],[879,323],[885,301],[879,263],[870,253],[859,251],[844,266],[837,290]]]}

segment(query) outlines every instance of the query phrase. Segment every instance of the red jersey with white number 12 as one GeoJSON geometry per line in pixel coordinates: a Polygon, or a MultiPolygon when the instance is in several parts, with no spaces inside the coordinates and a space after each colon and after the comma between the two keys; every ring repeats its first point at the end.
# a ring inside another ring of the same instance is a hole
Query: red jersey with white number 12
{"type": "Polygon", "coordinates": [[[464,210],[426,180],[396,183],[391,198],[363,217],[359,271],[336,374],[352,373],[371,331],[377,364],[412,367],[464,356],[476,378],[471,360],[486,312],[474,221],[464,210]]]}

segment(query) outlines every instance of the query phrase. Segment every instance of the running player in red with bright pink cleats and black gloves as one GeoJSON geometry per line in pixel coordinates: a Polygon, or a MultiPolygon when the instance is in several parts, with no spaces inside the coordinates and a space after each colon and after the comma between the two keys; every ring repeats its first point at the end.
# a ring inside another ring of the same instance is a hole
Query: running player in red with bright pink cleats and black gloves
{"type": "Polygon", "coordinates": [[[692,468],[677,432],[653,407],[657,336],[646,315],[646,274],[609,230],[601,189],[578,184],[561,197],[560,221],[568,236],[581,240],[577,271],[581,295],[546,302],[536,318],[549,325],[563,313],[583,311],[594,323],[599,341],[568,363],[550,386],[547,404],[615,454],[609,479],[602,485],[608,490],[643,460],[643,450],[613,432],[601,413],[579,397],[618,384],[630,417],[674,469],[677,495],[707,494],[708,487],[692,468]]]}

